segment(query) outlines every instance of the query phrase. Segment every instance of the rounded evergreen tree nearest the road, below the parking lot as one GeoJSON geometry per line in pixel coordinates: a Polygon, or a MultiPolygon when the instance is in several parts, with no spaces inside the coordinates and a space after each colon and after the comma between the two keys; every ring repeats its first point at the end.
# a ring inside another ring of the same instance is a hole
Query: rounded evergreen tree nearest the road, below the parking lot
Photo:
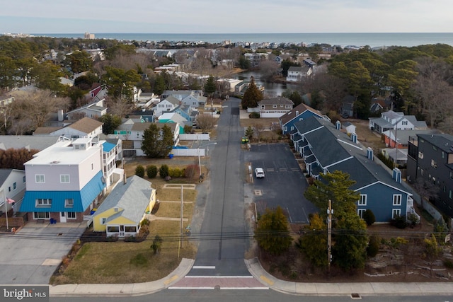
{"type": "Polygon", "coordinates": [[[274,211],[266,209],[265,214],[258,220],[255,238],[260,248],[271,255],[280,255],[291,246],[288,221],[281,207],[274,211]]]}

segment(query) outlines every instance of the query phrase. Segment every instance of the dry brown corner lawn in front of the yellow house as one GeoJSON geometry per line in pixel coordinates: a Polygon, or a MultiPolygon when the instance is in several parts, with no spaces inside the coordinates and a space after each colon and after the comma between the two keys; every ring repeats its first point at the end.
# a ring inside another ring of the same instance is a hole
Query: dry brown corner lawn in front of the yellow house
{"type": "Polygon", "coordinates": [[[178,221],[153,221],[149,229],[147,240],[141,243],[85,243],[64,270],[64,274],[52,277],[51,283],[118,284],[153,281],[168,276],[179,265],[181,258],[195,257],[195,246],[185,242],[178,258],[178,221]],[[161,252],[154,255],[150,246],[156,234],[164,242],[161,252]]]}

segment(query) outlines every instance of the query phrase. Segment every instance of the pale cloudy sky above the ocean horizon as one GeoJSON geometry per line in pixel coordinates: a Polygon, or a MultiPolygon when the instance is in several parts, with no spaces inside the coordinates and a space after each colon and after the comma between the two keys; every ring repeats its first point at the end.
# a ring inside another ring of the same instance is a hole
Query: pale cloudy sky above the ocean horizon
{"type": "Polygon", "coordinates": [[[1,33],[453,33],[452,0],[15,0],[1,33]]]}

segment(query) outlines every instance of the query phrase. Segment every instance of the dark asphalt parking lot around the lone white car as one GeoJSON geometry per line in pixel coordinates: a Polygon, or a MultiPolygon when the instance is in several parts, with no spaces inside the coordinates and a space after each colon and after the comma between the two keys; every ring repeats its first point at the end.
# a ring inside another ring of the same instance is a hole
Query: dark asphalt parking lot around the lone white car
{"type": "Polygon", "coordinates": [[[280,206],[287,211],[289,223],[308,223],[309,214],[318,211],[304,197],[308,183],[287,144],[252,145],[244,160],[252,170],[260,167],[265,172],[259,179],[253,173],[251,184],[258,211],[280,206]]]}

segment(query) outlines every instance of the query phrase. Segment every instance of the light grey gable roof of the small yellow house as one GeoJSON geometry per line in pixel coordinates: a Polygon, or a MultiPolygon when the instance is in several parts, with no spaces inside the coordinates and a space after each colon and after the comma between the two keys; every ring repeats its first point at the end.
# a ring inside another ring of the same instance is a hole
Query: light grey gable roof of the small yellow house
{"type": "Polygon", "coordinates": [[[144,211],[149,206],[153,192],[151,182],[137,175],[127,178],[127,182],[121,182],[108,194],[102,204],[96,210],[95,216],[102,214],[114,207],[118,208],[117,214],[110,216],[106,221],[111,221],[117,216],[125,217],[130,221],[139,223],[144,211]]]}

